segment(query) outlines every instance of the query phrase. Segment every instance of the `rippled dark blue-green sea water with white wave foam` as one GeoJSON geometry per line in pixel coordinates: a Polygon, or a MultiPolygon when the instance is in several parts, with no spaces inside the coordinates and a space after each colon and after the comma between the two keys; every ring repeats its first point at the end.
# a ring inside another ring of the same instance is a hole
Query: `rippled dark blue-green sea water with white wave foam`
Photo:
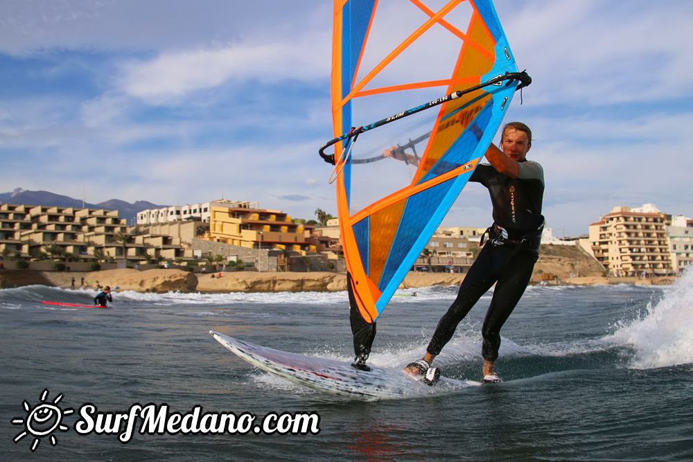
{"type": "MultiPolygon", "coordinates": [[[[374,364],[418,359],[456,288],[416,292],[399,293],[378,321],[374,364]]],[[[412,381],[411,396],[372,402],[258,371],[208,333],[349,360],[345,292],[116,292],[108,310],[39,303],[92,296],[0,290],[1,460],[693,460],[693,273],[669,287],[529,287],[502,331],[497,370],[505,382],[441,393],[412,381]],[[42,403],[62,410],[55,418],[62,429],[27,431],[42,403]],[[76,431],[87,403],[104,415],[126,414],[135,403],[258,420],[310,413],[319,432],[135,432],[121,443],[118,426],[76,431]]],[[[437,359],[445,375],[480,380],[490,296],[437,359]]]]}

